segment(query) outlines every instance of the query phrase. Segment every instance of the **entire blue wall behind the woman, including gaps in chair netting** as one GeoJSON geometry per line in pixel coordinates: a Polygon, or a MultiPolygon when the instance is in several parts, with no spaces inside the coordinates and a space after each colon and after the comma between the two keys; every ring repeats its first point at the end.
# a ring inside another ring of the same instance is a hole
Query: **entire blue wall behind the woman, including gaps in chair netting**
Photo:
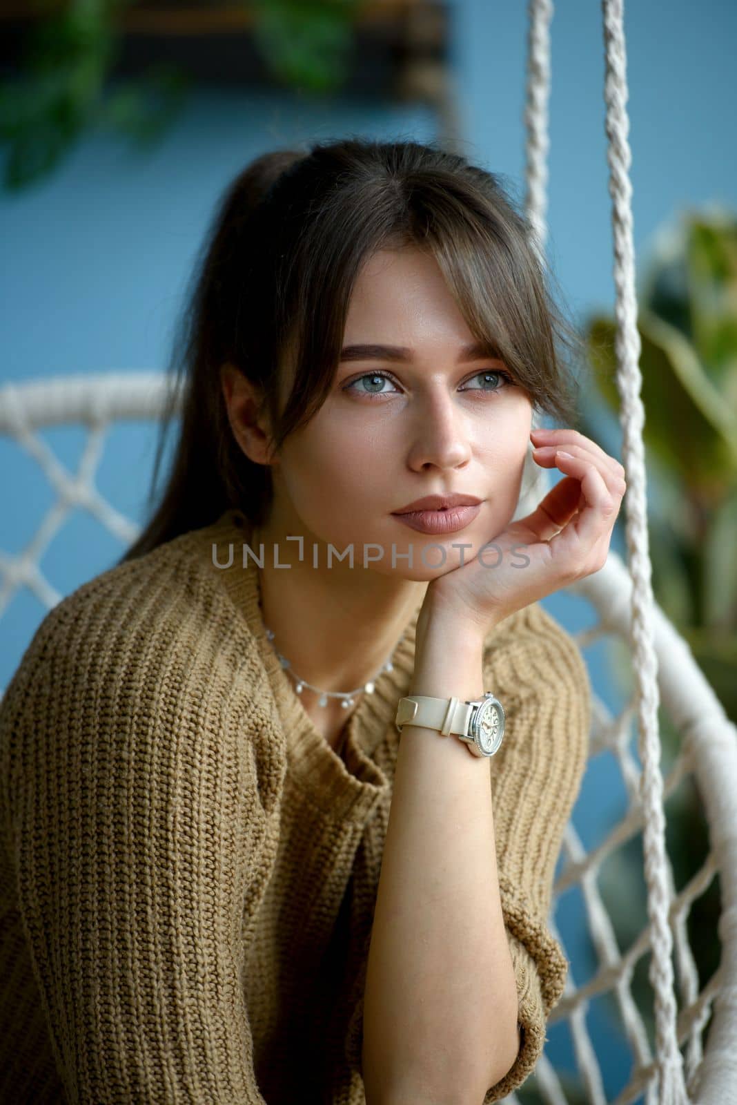
{"type": "MultiPolygon", "coordinates": [[[[456,0],[452,9],[463,151],[502,173],[521,198],[526,6],[456,0]]],[[[680,0],[669,6],[666,20],[663,13],[632,2],[626,13],[639,256],[656,228],[684,208],[737,206],[737,7],[705,0],[696,8],[680,0]]],[[[583,320],[613,302],[600,6],[559,4],[553,35],[548,251],[567,304],[583,320]]],[[[163,368],[185,281],[225,185],[265,149],[345,131],[424,140],[435,137],[436,122],[429,110],[406,106],[338,98],[318,107],[289,95],[197,92],[154,152],[131,152],[114,136],[89,137],[49,181],[18,197],[0,196],[7,259],[0,275],[0,382],[163,368]]],[[[84,443],[78,428],[42,438],[75,466],[84,443]]],[[[618,440],[602,423],[605,448],[617,452],[618,440]]],[[[116,428],[97,480],[136,520],[142,519],[154,443],[150,425],[116,428]]],[[[0,549],[18,552],[54,495],[35,463],[4,441],[0,471],[0,549]]],[[[616,547],[621,550],[621,540],[616,547]]],[[[118,541],[76,514],[41,566],[66,593],[120,551],[118,541]]],[[[591,612],[567,596],[552,596],[545,606],[572,630],[591,621],[591,612]]],[[[0,687],[43,612],[22,589],[0,618],[0,687]]],[[[607,654],[591,650],[587,660],[597,693],[616,707],[620,693],[607,654]]],[[[587,846],[624,802],[610,767],[607,757],[591,761],[576,807],[575,824],[587,846]]],[[[575,892],[560,902],[556,919],[580,982],[594,958],[575,892]]],[[[626,1052],[609,1036],[607,1011],[596,1001],[588,1024],[613,1096],[626,1078],[626,1052]]],[[[554,1025],[549,1039],[556,1062],[569,1065],[563,1027],[554,1025]]]]}

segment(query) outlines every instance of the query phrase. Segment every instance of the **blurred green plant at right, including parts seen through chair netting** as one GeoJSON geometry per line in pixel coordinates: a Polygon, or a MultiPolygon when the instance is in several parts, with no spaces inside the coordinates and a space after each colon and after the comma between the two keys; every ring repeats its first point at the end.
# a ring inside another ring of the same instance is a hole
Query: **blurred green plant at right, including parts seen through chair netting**
{"type": "MultiPolygon", "coordinates": [[[[639,291],[638,328],[653,593],[727,715],[737,720],[737,215],[692,211],[661,231],[639,291]]],[[[596,391],[619,415],[615,335],[612,318],[589,319],[596,391]]],[[[583,432],[596,439],[594,421],[584,417],[583,422],[583,432]]],[[[617,642],[610,656],[629,698],[634,693],[631,652],[617,642]]],[[[680,736],[663,709],[659,718],[666,777],[680,736]]],[[[682,780],[665,804],[666,848],[679,892],[709,851],[695,778],[682,780]]],[[[601,867],[601,894],[622,949],[649,923],[643,870],[641,833],[601,867]]],[[[701,987],[718,967],[719,912],[717,876],[694,901],[687,920],[701,987]]],[[[649,962],[650,955],[638,962],[632,992],[654,1046],[649,962]]]]}

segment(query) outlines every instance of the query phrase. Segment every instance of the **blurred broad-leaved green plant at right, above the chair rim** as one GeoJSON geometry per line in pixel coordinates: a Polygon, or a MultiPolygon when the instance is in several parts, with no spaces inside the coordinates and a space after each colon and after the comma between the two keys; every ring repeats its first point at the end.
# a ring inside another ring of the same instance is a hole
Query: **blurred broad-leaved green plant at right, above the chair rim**
{"type": "MultiPolygon", "coordinates": [[[[737,719],[737,217],[688,213],[640,293],[653,591],[737,719]]],[[[619,411],[615,323],[589,320],[600,396],[619,411]]]]}

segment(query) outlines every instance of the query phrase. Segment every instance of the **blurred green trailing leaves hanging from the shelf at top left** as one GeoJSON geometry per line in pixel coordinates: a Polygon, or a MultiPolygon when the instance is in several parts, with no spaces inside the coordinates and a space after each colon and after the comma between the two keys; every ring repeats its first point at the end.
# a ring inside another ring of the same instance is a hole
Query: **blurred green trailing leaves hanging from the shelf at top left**
{"type": "MultiPolygon", "coordinates": [[[[360,0],[241,0],[269,73],[302,92],[333,91],[346,76],[360,0]]],[[[139,148],[177,118],[191,78],[165,61],[136,80],[109,76],[122,39],[121,15],[136,0],[35,0],[19,73],[0,84],[3,187],[19,191],[47,177],[81,135],[109,127],[139,148]]]]}

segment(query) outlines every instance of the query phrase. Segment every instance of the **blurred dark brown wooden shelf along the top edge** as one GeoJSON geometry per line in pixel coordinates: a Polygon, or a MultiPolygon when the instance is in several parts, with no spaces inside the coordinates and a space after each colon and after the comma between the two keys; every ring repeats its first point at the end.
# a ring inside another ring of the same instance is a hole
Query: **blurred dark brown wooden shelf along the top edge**
{"type": "MultiPolygon", "coordinates": [[[[100,6],[104,7],[104,6],[100,6]]],[[[19,67],[29,31],[68,4],[52,2],[40,14],[28,3],[0,0],[0,69],[19,67]]],[[[113,78],[140,75],[165,60],[200,84],[271,88],[286,82],[265,56],[266,36],[282,35],[285,52],[335,50],[344,38],[341,95],[432,98],[447,64],[448,4],[441,0],[348,0],[324,6],[291,2],[130,3],[106,17],[119,36],[113,78]],[[321,38],[320,38],[321,36],[321,38]]]]}

